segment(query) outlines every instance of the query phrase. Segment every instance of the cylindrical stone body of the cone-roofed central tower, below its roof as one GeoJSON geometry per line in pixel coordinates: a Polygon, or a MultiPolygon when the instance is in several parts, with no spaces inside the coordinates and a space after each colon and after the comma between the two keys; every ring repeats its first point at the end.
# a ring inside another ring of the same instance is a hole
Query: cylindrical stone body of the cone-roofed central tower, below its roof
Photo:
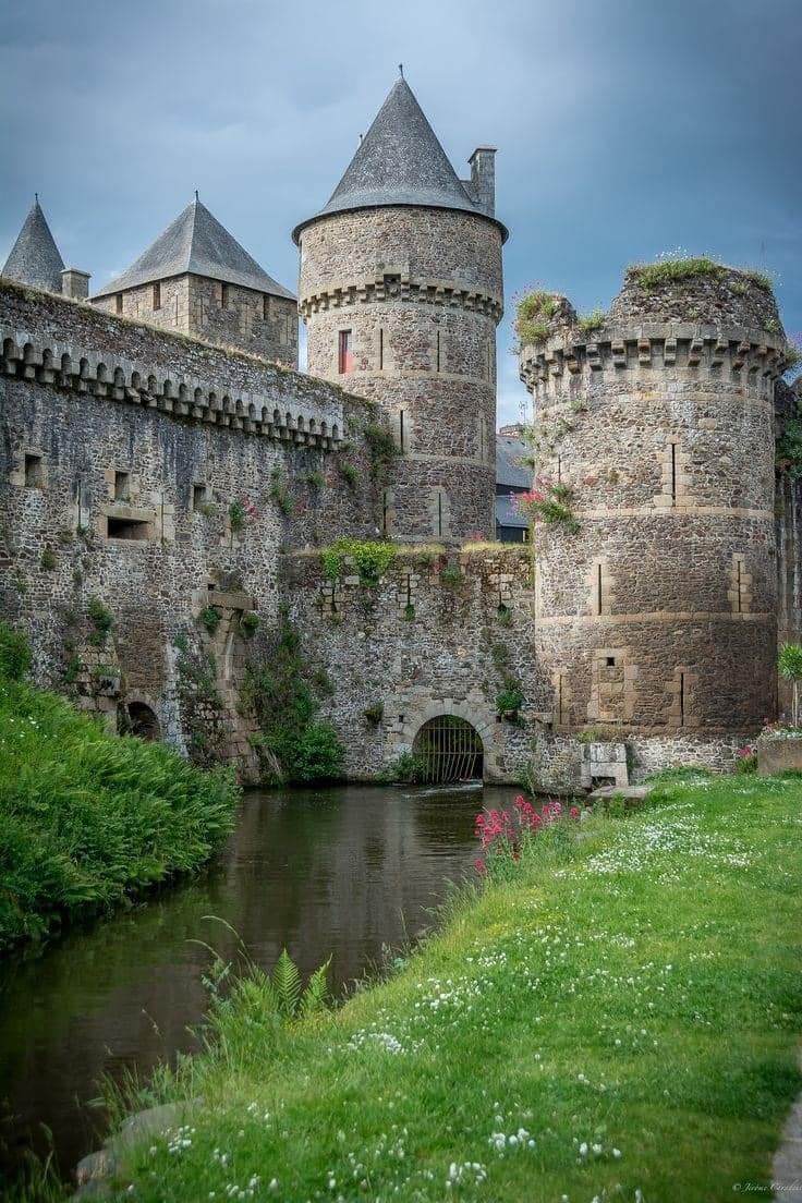
{"type": "Polygon", "coordinates": [[[403,451],[382,529],[424,541],[492,538],[498,226],[420,208],[321,218],[301,236],[299,310],[309,371],[378,401],[403,451]],[[351,332],[347,377],[341,331],[351,332]]]}

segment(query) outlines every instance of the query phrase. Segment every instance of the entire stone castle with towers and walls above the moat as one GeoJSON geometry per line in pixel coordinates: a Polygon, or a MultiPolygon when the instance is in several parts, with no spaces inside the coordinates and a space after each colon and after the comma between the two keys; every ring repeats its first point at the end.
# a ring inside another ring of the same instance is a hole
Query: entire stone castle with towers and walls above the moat
{"type": "Polygon", "coordinates": [[[494,154],[459,179],[397,79],[293,231],[297,301],[197,195],[89,297],[36,201],[0,280],[0,591],[38,680],[245,777],[248,664],[279,614],[354,778],[421,733],[445,764],[455,730],[491,781],[618,781],[594,737],[635,776],[726,766],[776,715],[800,499],[776,485],[771,289],[630,269],[595,325],[545,295],[519,360],[535,544],[493,544],[494,154]],[[379,579],[326,568],[344,535],[392,540],[379,579]]]}

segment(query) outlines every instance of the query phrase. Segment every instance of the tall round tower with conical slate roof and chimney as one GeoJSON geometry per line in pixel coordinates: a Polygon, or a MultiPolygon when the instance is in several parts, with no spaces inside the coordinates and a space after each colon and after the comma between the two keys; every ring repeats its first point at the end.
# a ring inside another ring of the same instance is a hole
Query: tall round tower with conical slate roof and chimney
{"type": "Polygon", "coordinates": [[[293,231],[308,369],[390,420],[400,457],[381,523],[399,539],[493,538],[494,155],[475,150],[458,179],[400,77],[328,203],[293,231]]]}

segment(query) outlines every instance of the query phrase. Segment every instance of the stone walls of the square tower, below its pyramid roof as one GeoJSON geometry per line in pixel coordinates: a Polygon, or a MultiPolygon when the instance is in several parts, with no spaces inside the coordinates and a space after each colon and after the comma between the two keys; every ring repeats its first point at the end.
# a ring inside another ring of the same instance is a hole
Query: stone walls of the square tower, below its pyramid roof
{"type": "Polygon", "coordinates": [[[298,366],[298,312],[291,298],[255,292],[238,284],[225,285],[224,295],[219,280],[173,275],[159,282],[159,308],[153,302],[154,285],[143,284],[99,297],[93,306],[292,368],[298,366]]]}

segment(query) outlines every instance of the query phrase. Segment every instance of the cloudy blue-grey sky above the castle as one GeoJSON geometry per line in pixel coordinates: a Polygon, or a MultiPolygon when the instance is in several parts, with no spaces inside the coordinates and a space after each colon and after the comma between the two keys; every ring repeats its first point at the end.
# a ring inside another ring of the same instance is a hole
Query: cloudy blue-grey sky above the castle
{"type": "MultiPolygon", "coordinates": [[[[802,0],[0,0],[0,263],[32,200],[100,286],[200,189],[277,279],[405,75],[459,174],[499,148],[515,294],[607,306],[685,248],[802,331],[802,0]]],[[[499,354],[500,417],[523,386],[499,354]]]]}

